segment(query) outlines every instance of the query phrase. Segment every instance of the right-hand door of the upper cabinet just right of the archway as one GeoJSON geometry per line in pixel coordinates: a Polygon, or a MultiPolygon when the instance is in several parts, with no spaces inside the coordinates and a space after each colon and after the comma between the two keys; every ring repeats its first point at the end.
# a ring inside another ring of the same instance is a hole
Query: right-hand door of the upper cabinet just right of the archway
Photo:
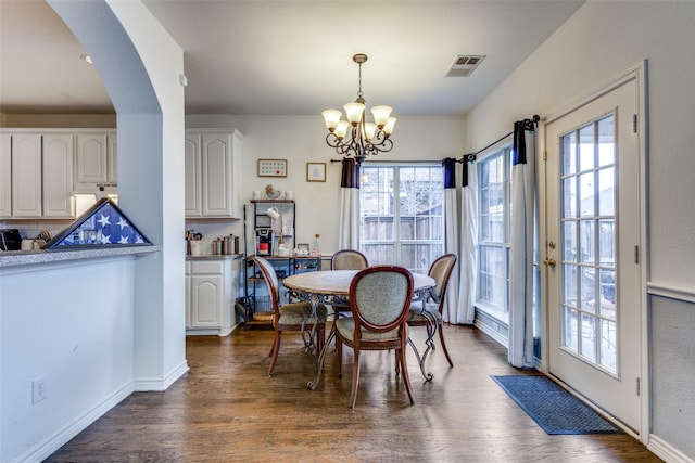
{"type": "Polygon", "coordinates": [[[202,136],[203,216],[232,217],[231,149],[230,133],[202,136]]]}

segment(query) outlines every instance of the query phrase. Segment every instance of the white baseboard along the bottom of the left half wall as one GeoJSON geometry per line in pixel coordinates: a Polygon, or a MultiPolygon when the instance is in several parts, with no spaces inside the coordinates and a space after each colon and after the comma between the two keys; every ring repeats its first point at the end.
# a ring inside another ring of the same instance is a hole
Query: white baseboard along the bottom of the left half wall
{"type": "Polygon", "coordinates": [[[31,446],[20,454],[13,462],[40,462],[50,456],[58,449],[70,442],[75,436],[85,430],[90,424],[103,416],[109,410],[121,403],[123,399],[132,394],[132,383],[115,391],[111,397],[97,404],[91,410],[85,411],[65,425],[55,429],[54,433],[31,446]]]}

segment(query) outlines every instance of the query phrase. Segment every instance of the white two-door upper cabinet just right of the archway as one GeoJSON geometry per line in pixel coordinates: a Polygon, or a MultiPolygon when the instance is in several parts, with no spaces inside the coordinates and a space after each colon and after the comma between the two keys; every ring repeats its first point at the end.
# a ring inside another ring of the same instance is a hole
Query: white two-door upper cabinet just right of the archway
{"type": "Polygon", "coordinates": [[[187,131],[186,217],[241,218],[241,133],[187,131]]]}

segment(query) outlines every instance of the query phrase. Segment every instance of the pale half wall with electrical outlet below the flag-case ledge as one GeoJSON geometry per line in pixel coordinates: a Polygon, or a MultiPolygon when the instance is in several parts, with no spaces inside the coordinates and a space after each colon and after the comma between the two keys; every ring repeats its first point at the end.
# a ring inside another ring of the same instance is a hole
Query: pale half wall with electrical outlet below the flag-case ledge
{"type": "Polygon", "coordinates": [[[0,461],[46,458],[132,391],[134,274],[134,257],[0,270],[0,461]]]}

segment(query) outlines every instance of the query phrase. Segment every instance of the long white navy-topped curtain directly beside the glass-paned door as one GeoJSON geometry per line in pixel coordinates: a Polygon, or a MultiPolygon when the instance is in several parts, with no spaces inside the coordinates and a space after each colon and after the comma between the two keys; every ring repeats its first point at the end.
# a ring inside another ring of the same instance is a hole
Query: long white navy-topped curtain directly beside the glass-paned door
{"type": "Polygon", "coordinates": [[[511,259],[509,263],[509,350],[517,368],[533,362],[533,241],[535,132],[530,119],[514,123],[511,167],[511,259]]]}

